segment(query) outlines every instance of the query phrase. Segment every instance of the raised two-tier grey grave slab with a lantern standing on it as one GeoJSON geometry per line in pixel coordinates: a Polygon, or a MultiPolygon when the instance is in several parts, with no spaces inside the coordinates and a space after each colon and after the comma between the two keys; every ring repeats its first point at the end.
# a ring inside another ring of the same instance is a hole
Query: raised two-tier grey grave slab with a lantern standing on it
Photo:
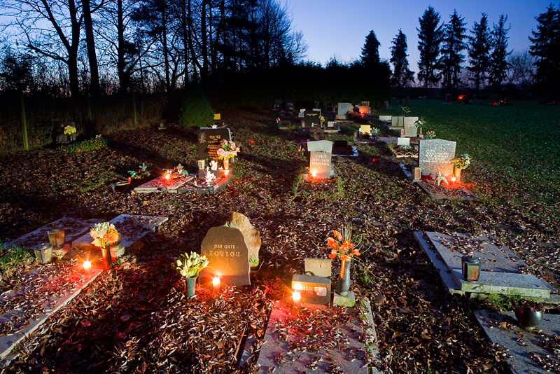
{"type": "Polygon", "coordinates": [[[416,242],[428,255],[442,282],[451,293],[489,295],[519,295],[554,303],[554,288],[543,279],[528,273],[528,266],[510,249],[496,247],[486,237],[453,236],[441,233],[414,233],[416,242]],[[474,254],[482,262],[477,284],[465,282],[461,272],[461,257],[474,254]]]}

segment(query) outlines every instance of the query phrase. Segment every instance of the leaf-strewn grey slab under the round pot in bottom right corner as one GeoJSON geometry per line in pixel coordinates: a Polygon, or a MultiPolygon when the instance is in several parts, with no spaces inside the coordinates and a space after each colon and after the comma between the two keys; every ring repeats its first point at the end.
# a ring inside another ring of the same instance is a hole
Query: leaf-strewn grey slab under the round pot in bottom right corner
{"type": "Polygon", "coordinates": [[[560,335],[560,315],[545,314],[541,331],[531,333],[517,326],[514,312],[490,312],[488,310],[475,310],[479,325],[493,344],[509,349],[507,364],[512,373],[518,374],[545,374],[555,372],[558,366],[556,354],[549,351],[547,339],[560,335]],[[542,364],[552,362],[548,370],[542,364]]]}

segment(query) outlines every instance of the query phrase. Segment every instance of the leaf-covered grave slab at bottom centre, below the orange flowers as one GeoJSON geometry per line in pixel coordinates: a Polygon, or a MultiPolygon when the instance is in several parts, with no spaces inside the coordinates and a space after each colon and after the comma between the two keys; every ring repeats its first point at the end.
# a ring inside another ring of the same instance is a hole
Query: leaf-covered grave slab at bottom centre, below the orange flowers
{"type": "Polygon", "coordinates": [[[309,308],[316,313],[316,318],[298,321],[302,316],[297,314],[297,310],[277,301],[258,355],[258,373],[367,374],[368,363],[371,362],[375,363],[370,367],[371,372],[381,373],[375,367],[380,366],[377,338],[370,303],[365,301],[365,325],[360,322],[356,308],[347,310],[349,317],[344,323],[330,325],[321,321],[328,321],[325,316],[329,312],[336,313],[337,308],[316,305],[309,308]],[[364,341],[370,352],[366,352],[364,341]]]}

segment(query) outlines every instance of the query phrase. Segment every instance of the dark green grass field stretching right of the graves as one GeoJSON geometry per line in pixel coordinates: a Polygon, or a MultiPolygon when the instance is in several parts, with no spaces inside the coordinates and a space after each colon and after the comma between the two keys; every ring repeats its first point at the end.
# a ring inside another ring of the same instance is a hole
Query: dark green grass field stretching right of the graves
{"type": "MultiPolygon", "coordinates": [[[[558,106],[510,102],[507,106],[444,104],[411,100],[409,116],[427,121],[424,132],[457,142],[456,153],[472,156],[463,181],[498,205],[538,205],[560,219],[560,116],[558,106]]],[[[402,116],[398,104],[381,114],[402,116]]]]}

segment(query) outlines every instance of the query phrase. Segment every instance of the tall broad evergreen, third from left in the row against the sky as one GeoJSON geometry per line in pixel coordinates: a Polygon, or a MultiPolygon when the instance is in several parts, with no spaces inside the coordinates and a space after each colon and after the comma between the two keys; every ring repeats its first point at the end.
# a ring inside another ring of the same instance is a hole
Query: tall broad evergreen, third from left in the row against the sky
{"type": "Polygon", "coordinates": [[[440,56],[440,44],[443,32],[440,23],[440,13],[428,6],[421,18],[419,18],[420,29],[418,31],[418,50],[420,51],[420,61],[418,62],[418,80],[423,81],[424,89],[428,93],[428,86],[440,81],[437,74],[437,59],[440,56]]]}

